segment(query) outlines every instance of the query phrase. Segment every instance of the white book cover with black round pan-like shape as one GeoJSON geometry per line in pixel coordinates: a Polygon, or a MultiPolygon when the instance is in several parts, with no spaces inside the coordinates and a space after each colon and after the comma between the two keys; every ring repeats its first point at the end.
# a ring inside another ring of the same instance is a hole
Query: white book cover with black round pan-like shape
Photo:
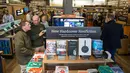
{"type": "Polygon", "coordinates": [[[79,38],[79,55],[90,56],[91,44],[91,38],[79,38]]]}

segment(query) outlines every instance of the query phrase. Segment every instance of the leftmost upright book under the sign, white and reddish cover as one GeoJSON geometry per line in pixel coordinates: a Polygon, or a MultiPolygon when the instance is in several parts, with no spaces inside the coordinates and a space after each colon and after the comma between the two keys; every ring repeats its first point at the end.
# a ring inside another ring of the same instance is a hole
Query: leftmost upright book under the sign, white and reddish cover
{"type": "Polygon", "coordinates": [[[46,55],[56,55],[56,40],[46,40],[46,55]]]}

